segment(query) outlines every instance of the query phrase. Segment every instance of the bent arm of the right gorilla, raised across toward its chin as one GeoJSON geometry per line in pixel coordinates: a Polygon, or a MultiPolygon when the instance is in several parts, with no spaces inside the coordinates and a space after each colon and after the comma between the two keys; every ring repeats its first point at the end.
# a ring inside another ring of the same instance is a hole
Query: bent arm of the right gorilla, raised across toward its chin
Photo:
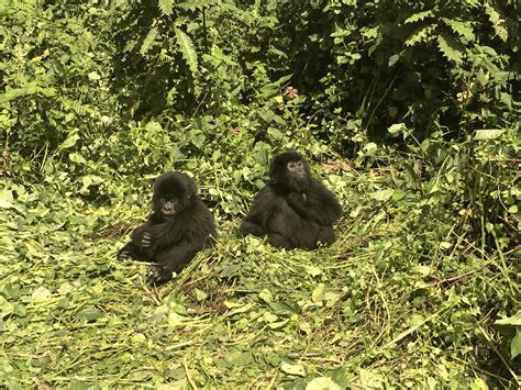
{"type": "Polygon", "coordinates": [[[333,225],[342,215],[336,197],[318,179],[312,179],[303,193],[292,191],[287,200],[299,215],[322,226],[333,225]]]}

